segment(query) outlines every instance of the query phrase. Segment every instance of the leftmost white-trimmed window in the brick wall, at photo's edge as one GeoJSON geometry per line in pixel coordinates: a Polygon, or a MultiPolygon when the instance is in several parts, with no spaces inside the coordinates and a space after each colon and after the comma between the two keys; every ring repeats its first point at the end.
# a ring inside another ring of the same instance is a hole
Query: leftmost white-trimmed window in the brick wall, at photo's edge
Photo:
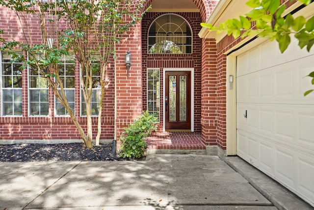
{"type": "Polygon", "coordinates": [[[1,52],[1,116],[22,116],[22,66],[1,52]]]}

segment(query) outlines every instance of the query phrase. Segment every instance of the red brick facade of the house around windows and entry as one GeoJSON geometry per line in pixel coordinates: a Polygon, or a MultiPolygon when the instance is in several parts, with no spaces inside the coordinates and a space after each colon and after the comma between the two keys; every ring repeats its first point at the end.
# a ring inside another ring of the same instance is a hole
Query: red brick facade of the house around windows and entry
{"type": "MultiPolygon", "coordinates": [[[[152,0],[147,0],[146,5],[150,5],[151,2],[152,0]]],[[[107,78],[105,78],[109,81],[109,84],[104,100],[101,139],[118,139],[123,132],[123,128],[139,116],[142,110],[146,110],[147,68],[159,68],[160,72],[163,68],[194,68],[194,130],[202,131],[202,139],[206,145],[217,145],[223,150],[226,149],[226,56],[223,52],[230,46],[229,44],[232,41],[225,38],[216,45],[215,40],[200,39],[198,37],[198,32],[201,30],[200,23],[206,21],[218,0],[193,0],[193,2],[198,6],[200,13],[176,13],[182,16],[191,26],[193,34],[192,54],[152,55],[147,53],[147,33],[150,24],[158,16],[165,13],[147,13],[142,22],[135,25],[128,32],[125,39],[117,45],[115,68],[114,64],[110,63],[107,78]],[[129,75],[127,75],[124,63],[124,55],[128,50],[131,51],[132,55],[129,75]]],[[[19,31],[19,24],[12,16],[8,10],[0,7],[0,28],[8,31],[6,35],[14,33],[18,36],[19,33],[16,31],[19,31]]],[[[38,30],[38,24],[34,22],[34,34],[37,34],[38,30]]],[[[40,37],[38,39],[40,40],[40,37]]],[[[78,63],[76,71],[78,72],[78,63]]],[[[84,127],[86,119],[79,115],[79,77],[78,73],[76,74],[75,112],[78,121],[84,127]]],[[[160,84],[162,84],[162,81],[163,75],[160,75],[160,84]]],[[[162,86],[160,88],[163,89],[162,86]]],[[[0,117],[1,139],[80,139],[80,135],[69,117],[54,116],[52,90],[49,94],[49,117],[29,117],[27,109],[27,74],[26,72],[23,73],[23,116],[0,117]]],[[[160,104],[163,104],[163,95],[160,96],[160,99],[160,104]]],[[[162,114],[161,109],[159,130],[163,127],[162,114]]],[[[96,117],[93,120],[96,131],[96,117]]]]}

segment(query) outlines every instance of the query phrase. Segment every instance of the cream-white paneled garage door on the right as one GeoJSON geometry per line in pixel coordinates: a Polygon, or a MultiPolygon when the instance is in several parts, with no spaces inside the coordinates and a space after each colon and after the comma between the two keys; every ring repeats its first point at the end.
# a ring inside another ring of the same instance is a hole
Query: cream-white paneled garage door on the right
{"type": "Polygon", "coordinates": [[[237,154],[314,206],[314,49],[265,42],[236,61],[237,154]]]}

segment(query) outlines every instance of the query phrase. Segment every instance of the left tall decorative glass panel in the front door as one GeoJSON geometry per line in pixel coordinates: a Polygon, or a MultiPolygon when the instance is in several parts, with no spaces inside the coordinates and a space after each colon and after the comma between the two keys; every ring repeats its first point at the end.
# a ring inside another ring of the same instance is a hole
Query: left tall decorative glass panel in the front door
{"type": "Polygon", "coordinates": [[[176,121],[176,91],[177,91],[177,76],[169,76],[169,121],[176,121]]]}

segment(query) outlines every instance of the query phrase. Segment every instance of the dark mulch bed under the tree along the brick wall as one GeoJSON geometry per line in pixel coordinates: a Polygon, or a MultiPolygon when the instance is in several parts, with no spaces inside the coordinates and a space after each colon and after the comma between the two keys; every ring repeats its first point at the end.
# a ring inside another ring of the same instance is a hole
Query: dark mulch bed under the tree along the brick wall
{"type": "Polygon", "coordinates": [[[93,146],[82,143],[68,144],[9,144],[0,145],[0,162],[31,161],[121,161],[111,153],[111,145],[93,146]]]}

